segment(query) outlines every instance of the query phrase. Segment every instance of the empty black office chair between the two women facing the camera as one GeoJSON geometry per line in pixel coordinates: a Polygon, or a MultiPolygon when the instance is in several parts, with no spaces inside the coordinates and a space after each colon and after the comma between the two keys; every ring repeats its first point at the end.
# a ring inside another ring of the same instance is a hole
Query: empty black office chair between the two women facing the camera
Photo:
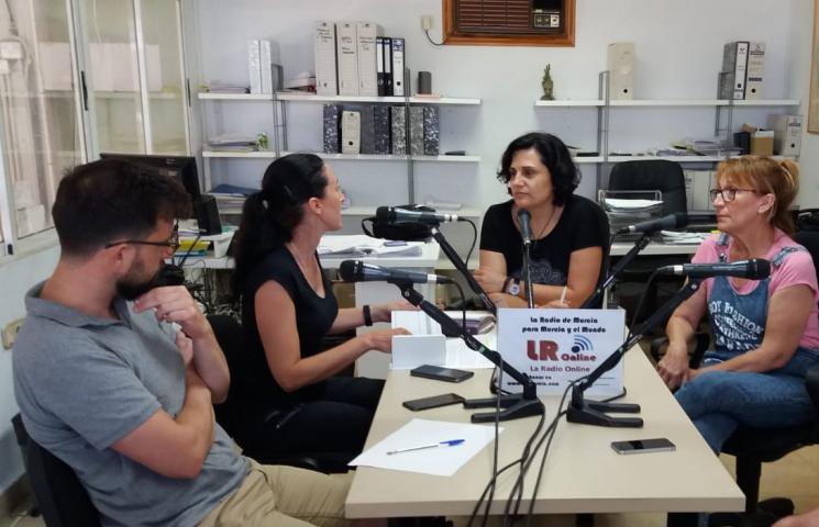
{"type": "MultiPolygon", "coordinates": [[[[609,175],[609,190],[658,190],[663,198],[662,215],[674,213],[685,213],[687,203],[685,197],[685,176],[683,167],[676,161],[666,159],[646,159],[618,162],[611,168],[609,175]]],[[[632,289],[645,294],[645,303],[640,313],[637,314],[637,321],[640,322],[649,314],[655,311],[657,302],[657,284],[672,283],[674,290],[683,284],[678,277],[656,277],[654,282],[645,289],[642,284],[646,282],[649,276],[657,267],[680,264],[678,257],[645,257],[639,258],[639,261],[631,264],[621,277],[621,283],[640,284],[640,285],[620,285],[620,298],[630,296],[623,294],[624,290],[632,289]]],[[[634,309],[637,305],[634,306],[634,309]]],[[[632,313],[630,315],[633,316],[632,313]]]]}

